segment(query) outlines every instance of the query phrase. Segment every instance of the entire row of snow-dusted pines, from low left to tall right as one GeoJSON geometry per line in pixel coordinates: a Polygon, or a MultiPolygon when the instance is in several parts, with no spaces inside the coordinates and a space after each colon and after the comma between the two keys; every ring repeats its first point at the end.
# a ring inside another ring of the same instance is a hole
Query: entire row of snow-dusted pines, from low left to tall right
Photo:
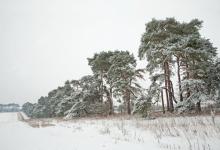
{"type": "Polygon", "coordinates": [[[129,51],[96,53],[88,58],[93,75],[66,81],[38,103],[25,103],[22,109],[30,117],[112,115],[117,100],[121,103],[117,111],[127,114],[146,116],[155,102],[161,102],[164,113],[174,108],[201,111],[202,101],[220,101],[217,49],[201,37],[201,26],[197,19],[189,23],[153,19],[146,24],[138,51],[139,59],[147,60],[146,68],[137,69],[129,51]],[[139,85],[145,73],[151,79],[148,89],[139,85]]]}

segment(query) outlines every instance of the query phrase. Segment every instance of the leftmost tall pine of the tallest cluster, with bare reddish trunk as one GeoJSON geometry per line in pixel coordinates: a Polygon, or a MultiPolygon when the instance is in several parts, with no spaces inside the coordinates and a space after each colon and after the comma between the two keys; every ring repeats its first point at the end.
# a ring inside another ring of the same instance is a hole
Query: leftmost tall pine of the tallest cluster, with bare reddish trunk
{"type": "Polygon", "coordinates": [[[154,72],[164,72],[164,83],[167,99],[167,110],[173,111],[173,84],[171,81],[173,53],[171,51],[174,26],[178,22],[174,18],[155,20],[146,24],[146,32],[142,35],[139,48],[139,58],[148,61],[147,70],[150,75],[154,72]]]}

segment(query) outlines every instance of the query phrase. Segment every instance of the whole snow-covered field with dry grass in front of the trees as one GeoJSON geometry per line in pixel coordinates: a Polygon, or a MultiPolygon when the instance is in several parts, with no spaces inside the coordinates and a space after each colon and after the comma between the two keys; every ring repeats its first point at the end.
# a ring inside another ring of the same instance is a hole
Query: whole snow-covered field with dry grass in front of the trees
{"type": "Polygon", "coordinates": [[[220,117],[47,120],[0,113],[0,150],[219,150],[220,117]],[[27,118],[26,118],[27,119],[27,118]],[[33,122],[32,122],[33,123],[33,122]]]}

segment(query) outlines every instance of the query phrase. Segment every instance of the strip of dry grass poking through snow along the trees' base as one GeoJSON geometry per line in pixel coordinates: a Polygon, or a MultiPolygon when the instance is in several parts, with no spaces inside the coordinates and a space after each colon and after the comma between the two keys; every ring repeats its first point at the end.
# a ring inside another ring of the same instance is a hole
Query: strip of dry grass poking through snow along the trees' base
{"type": "Polygon", "coordinates": [[[119,141],[147,143],[146,137],[149,137],[151,132],[151,140],[154,140],[161,149],[168,150],[212,150],[212,140],[220,140],[220,116],[216,116],[215,123],[210,115],[172,115],[171,117],[164,115],[155,120],[126,115],[95,116],[73,120],[61,118],[24,120],[22,115],[18,114],[18,118],[34,128],[60,124],[77,132],[92,126],[101,135],[110,136],[115,143],[119,141]]]}

